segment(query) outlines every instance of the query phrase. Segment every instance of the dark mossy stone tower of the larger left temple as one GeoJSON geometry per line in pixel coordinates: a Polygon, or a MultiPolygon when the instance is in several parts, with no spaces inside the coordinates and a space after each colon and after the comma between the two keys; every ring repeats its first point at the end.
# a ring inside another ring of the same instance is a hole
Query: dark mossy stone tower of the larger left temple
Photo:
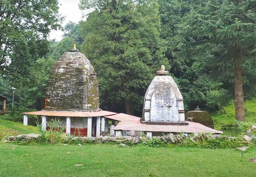
{"type": "Polygon", "coordinates": [[[72,49],[53,66],[46,86],[46,109],[99,109],[99,88],[96,73],[84,54],[72,49]]]}

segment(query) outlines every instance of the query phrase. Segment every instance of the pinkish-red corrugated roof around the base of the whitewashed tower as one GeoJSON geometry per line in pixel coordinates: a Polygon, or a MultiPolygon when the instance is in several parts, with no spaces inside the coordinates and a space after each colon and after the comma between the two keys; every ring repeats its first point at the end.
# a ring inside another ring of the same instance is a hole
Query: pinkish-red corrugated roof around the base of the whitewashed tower
{"type": "Polygon", "coordinates": [[[206,127],[200,123],[185,121],[189,125],[148,125],[140,121],[122,121],[114,130],[135,130],[148,132],[183,132],[183,133],[223,133],[219,130],[206,127]]]}

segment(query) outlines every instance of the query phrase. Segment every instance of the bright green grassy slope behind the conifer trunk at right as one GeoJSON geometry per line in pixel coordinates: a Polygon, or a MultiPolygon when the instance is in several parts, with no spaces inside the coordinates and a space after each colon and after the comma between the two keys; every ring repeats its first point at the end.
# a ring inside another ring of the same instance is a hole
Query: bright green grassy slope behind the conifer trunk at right
{"type": "MultiPolygon", "coordinates": [[[[255,121],[256,122],[256,98],[252,100],[246,100],[244,107],[247,108],[245,113],[246,121],[255,121]]],[[[214,120],[214,129],[221,130],[223,125],[233,124],[236,125],[235,117],[235,106],[234,101],[230,105],[224,106],[221,111],[216,114],[211,115],[212,120],[214,120]]],[[[222,130],[224,134],[235,134],[234,130],[222,130]]]]}

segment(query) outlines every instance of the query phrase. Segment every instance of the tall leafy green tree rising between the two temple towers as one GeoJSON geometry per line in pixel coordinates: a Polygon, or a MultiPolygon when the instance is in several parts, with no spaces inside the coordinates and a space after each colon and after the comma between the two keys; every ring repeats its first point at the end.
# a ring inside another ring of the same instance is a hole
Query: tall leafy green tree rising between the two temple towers
{"type": "Polygon", "coordinates": [[[96,9],[82,23],[81,50],[98,74],[103,108],[127,114],[141,110],[155,72],[162,64],[169,69],[158,7],[154,0],[80,2],[80,9],[96,9]]]}

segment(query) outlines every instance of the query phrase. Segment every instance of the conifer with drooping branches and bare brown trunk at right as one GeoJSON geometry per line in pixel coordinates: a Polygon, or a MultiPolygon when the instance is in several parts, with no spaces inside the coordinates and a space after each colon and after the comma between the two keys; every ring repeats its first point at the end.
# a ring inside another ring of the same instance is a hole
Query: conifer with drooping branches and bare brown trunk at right
{"type": "Polygon", "coordinates": [[[211,0],[191,9],[178,25],[176,51],[183,57],[210,54],[212,72],[233,72],[236,120],[245,121],[243,66],[255,66],[256,1],[211,0]]]}

